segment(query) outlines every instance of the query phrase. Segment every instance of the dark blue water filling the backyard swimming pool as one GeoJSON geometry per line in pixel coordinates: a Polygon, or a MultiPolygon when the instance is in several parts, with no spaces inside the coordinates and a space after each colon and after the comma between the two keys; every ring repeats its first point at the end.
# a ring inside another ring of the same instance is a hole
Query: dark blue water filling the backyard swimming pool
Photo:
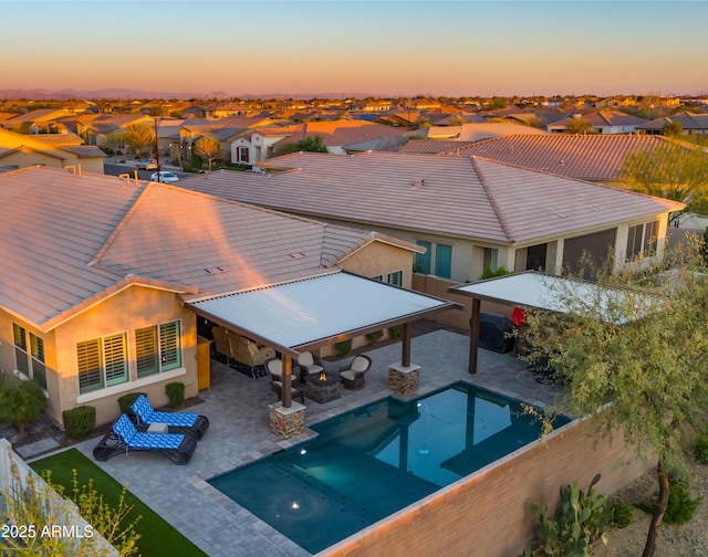
{"type": "Polygon", "coordinates": [[[313,554],[541,434],[518,401],[466,383],[311,429],[317,438],[209,483],[313,554]]]}

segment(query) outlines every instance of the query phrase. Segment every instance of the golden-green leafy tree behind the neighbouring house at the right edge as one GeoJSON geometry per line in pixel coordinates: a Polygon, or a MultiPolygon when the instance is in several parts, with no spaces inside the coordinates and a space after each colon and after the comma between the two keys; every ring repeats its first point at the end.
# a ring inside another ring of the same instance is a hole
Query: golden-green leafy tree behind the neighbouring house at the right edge
{"type": "Polygon", "coordinates": [[[686,211],[708,209],[708,155],[667,141],[662,148],[627,156],[620,175],[629,189],[686,203],[686,211]]]}

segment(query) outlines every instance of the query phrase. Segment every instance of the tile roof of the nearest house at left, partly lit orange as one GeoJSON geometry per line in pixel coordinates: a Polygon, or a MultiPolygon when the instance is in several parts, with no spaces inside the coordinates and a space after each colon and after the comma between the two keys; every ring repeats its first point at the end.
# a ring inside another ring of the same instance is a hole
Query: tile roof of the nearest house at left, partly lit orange
{"type": "Polygon", "coordinates": [[[45,330],[129,284],[204,297],[317,275],[386,241],[168,185],[48,167],[0,174],[0,307],[45,330]]]}

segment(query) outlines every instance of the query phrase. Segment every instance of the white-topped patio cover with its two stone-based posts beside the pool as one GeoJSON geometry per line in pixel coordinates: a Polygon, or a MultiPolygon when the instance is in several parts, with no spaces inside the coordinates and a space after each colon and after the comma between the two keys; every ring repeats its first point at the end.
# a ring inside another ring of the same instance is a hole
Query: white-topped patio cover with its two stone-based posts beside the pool
{"type": "Polygon", "coordinates": [[[282,401],[269,408],[272,431],[285,439],[304,429],[305,407],[292,400],[291,390],[293,360],[301,354],[400,325],[400,357],[387,364],[388,383],[400,395],[415,392],[420,366],[412,362],[410,324],[460,308],[447,299],[345,272],[191,299],[186,305],[199,316],[280,354],[282,401]]]}

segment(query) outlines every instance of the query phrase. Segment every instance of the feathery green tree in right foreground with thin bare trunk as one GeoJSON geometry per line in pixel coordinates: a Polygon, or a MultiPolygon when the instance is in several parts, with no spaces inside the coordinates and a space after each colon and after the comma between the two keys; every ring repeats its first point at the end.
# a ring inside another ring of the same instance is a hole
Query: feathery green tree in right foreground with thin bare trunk
{"type": "Polygon", "coordinates": [[[643,290],[631,274],[601,274],[606,290],[591,296],[570,286],[555,293],[568,313],[527,317],[530,357],[549,355],[561,370],[566,407],[575,416],[603,408],[602,434],[620,428],[639,456],[657,455],[658,498],[643,557],[654,555],[670,472],[684,467],[685,434],[708,403],[708,280],[694,272],[696,246],[687,252],[668,258],[670,273],[667,264],[644,276],[643,290]]]}

